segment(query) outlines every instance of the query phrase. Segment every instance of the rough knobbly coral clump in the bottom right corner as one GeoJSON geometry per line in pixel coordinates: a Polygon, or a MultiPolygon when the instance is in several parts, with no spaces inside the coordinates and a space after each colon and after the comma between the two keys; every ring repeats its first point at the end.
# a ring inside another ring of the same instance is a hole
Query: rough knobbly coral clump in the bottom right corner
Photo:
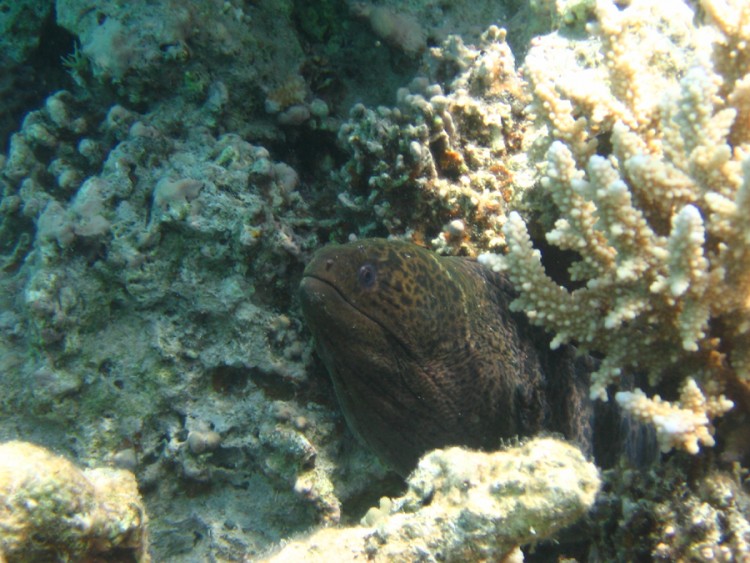
{"type": "Polygon", "coordinates": [[[746,561],[750,497],[737,466],[685,463],[678,454],[642,469],[606,471],[589,514],[603,561],[746,561]]]}

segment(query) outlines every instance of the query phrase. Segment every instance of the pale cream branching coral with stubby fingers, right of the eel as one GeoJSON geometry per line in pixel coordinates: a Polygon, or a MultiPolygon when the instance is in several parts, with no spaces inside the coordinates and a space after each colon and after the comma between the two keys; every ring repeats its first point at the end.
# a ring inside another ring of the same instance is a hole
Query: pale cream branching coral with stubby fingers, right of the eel
{"type": "Polygon", "coordinates": [[[693,453],[732,408],[723,393],[750,391],[750,4],[700,10],[695,23],[683,2],[600,0],[592,38],[535,42],[526,75],[554,139],[542,188],[559,213],[546,238],[579,255],[580,287],[547,275],[518,213],[495,262],[553,346],[604,355],[593,398],[629,369],[665,389],[682,381],[679,399],[616,399],[653,423],[663,450],[693,453]]]}

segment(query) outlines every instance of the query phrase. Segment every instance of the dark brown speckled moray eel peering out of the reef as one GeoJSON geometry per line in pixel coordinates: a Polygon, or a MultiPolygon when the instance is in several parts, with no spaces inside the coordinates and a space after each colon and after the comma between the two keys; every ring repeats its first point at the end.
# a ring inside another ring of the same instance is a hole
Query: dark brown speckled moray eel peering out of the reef
{"type": "Polygon", "coordinates": [[[476,261],[383,239],[319,250],[300,285],[349,427],[402,475],[434,448],[542,430],[590,448],[587,370],[510,311],[514,296],[476,261]]]}

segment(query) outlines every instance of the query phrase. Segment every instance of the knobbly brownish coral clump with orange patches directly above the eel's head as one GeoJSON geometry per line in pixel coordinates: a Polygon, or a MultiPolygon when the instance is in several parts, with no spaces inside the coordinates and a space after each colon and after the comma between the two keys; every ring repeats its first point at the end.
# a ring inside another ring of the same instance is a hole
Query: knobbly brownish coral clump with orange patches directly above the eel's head
{"type": "Polygon", "coordinates": [[[491,27],[477,47],[452,36],[430,65],[429,78],[399,89],[396,107],[357,105],[340,128],[351,155],[341,214],[364,224],[358,235],[435,237],[446,253],[497,248],[509,202],[533,182],[521,150],[527,100],[505,31],[491,27]]]}

